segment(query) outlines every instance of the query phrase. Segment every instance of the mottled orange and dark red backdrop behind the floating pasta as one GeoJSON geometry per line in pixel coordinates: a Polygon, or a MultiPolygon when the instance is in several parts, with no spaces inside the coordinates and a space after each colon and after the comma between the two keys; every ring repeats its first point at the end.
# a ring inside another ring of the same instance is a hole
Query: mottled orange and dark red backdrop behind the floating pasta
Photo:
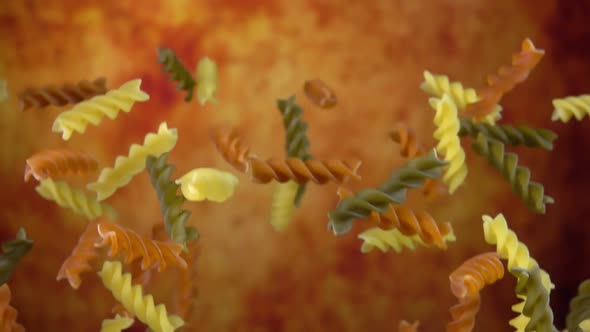
{"type": "MultiPolygon", "coordinates": [[[[35,240],[10,281],[19,321],[30,331],[97,331],[112,316],[112,296],[95,276],[78,291],[55,281],[85,221],[38,197],[33,183],[23,184],[24,161],[34,152],[86,149],[110,166],[166,120],[179,131],[171,154],[175,176],[195,167],[231,170],[211,143],[211,129],[239,127],[259,155],[281,157],[275,101],[297,94],[312,153],[360,158],[363,181],[354,188],[376,185],[403,164],[387,139],[393,126],[407,124],[434,144],[433,111],[418,89],[423,70],[479,86],[531,37],[546,56],[502,103],[504,122],[546,126],[560,135],[552,153],[516,149],[533,178],[556,197],[546,215],[530,213],[468,149],[467,184],[454,196],[434,203],[419,194],[409,199],[414,208],[452,222],[457,242],[446,252],[362,255],[356,234],[365,225],[340,238],[326,229],[335,186],[310,186],[292,227],[276,234],[268,223],[272,186],[239,175],[239,189],[227,203],[187,204],[190,223],[201,233],[199,294],[189,321],[195,331],[352,332],[395,331],[408,319],[420,320],[423,331],[441,330],[455,301],[448,274],[465,258],[493,250],[483,241],[481,215],[503,212],[557,284],[552,303],[563,327],[569,298],[590,276],[583,264],[590,251],[590,121],[551,123],[551,99],[590,92],[589,20],[587,0],[0,0],[0,78],[12,93],[0,118],[0,237],[11,238],[24,226],[35,240]],[[217,61],[219,104],[184,103],[156,63],[160,46],[173,48],[191,70],[203,56],[217,61]],[[26,87],[100,76],[110,87],[142,78],[151,100],[68,143],[51,132],[59,109],[17,111],[15,95],[26,87]],[[339,106],[324,111],[311,105],[301,93],[310,78],[328,82],[339,106]]],[[[142,234],[161,222],[147,174],[109,201],[121,222],[142,234]]],[[[165,295],[173,287],[162,281],[152,289],[165,295]]],[[[508,277],[484,291],[478,331],[509,330],[513,287],[508,277]]]]}

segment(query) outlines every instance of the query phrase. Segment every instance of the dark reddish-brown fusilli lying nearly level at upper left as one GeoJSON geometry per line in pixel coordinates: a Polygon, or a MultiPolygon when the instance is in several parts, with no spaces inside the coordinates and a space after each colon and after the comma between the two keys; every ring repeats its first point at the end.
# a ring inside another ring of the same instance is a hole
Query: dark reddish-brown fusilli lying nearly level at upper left
{"type": "Polygon", "coordinates": [[[29,88],[19,96],[20,111],[33,107],[46,107],[49,105],[66,106],[76,104],[107,92],[106,78],[98,78],[92,82],[80,81],[76,84],[67,83],[60,87],[45,86],[29,88]]]}

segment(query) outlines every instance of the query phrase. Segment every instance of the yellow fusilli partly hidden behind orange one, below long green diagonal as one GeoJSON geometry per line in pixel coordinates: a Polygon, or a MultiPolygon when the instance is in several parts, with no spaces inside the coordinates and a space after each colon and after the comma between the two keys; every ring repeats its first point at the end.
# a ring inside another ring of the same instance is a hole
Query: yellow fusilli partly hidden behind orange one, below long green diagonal
{"type": "MultiPolygon", "coordinates": [[[[362,253],[371,252],[375,248],[382,252],[387,252],[389,249],[393,249],[395,252],[399,253],[404,247],[410,250],[415,250],[416,245],[423,247],[428,246],[417,234],[407,236],[402,234],[397,228],[386,230],[380,227],[372,227],[359,234],[358,238],[363,240],[361,246],[362,253]]],[[[453,242],[455,241],[455,234],[449,232],[443,237],[443,240],[445,242],[453,242]]]]}

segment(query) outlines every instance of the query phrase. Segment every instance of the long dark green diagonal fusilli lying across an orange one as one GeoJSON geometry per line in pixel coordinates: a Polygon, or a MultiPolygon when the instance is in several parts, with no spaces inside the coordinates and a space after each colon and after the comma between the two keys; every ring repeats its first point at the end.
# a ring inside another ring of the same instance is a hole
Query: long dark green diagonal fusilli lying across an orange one
{"type": "Polygon", "coordinates": [[[401,204],[406,199],[407,189],[421,187],[425,179],[440,177],[446,165],[434,150],[410,160],[377,189],[364,189],[341,200],[336,209],[328,213],[328,227],[335,235],[348,233],[355,219],[365,219],[372,211],[385,213],[391,203],[401,204]]]}

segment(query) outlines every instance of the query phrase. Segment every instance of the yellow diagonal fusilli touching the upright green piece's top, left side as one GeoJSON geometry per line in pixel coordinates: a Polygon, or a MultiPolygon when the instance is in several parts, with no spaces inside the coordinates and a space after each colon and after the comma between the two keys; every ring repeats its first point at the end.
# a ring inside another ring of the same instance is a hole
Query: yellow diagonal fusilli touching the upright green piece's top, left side
{"type": "Polygon", "coordinates": [[[103,168],[98,179],[88,184],[88,189],[96,192],[99,201],[109,198],[144,170],[148,156],[159,157],[170,152],[177,140],[176,128],[168,129],[166,122],[162,122],[157,133],[145,136],[143,145],[132,144],[127,156],[118,156],[112,168],[103,168]]]}

